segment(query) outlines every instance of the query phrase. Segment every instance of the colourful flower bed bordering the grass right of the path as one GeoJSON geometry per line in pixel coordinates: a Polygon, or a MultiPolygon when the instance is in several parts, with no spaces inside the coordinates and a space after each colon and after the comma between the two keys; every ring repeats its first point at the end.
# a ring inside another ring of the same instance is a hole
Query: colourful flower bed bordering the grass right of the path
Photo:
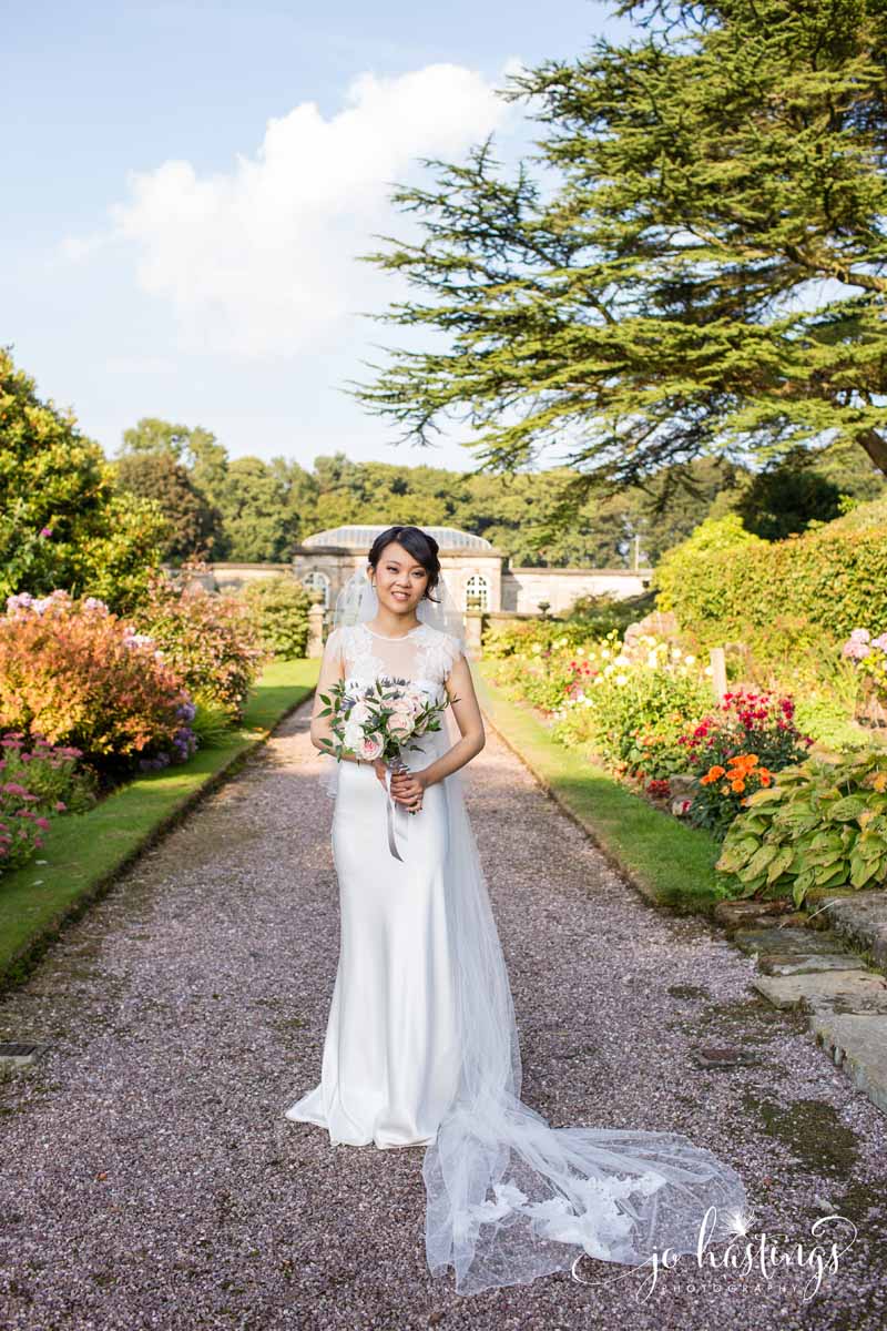
{"type": "MultiPolygon", "coordinates": [[[[713,705],[710,669],[701,669],[694,654],[649,635],[633,639],[630,652],[614,632],[597,642],[576,643],[572,635],[552,638],[547,626],[540,642],[533,642],[527,630],[521,636],[520,650],[491,663],[493,681],[512,699],[544,711],[552,739],[568,748],[584,748],[590,761],[633,785],[650,803],[725,839],[719,861],[719,889],[725,896],[745,894],[743,884],[750,884],[753,892],[766,885],[775,894],[793,892],[801,901],[810,885],[883,881],[887,849],[882,861],[880,847],[883,841],[887,848],[887,795],[878,773],[879,764],[887,772],[886,753],[863,751],[838,760],[847,764],[842,780],[848,792],[856,779],[866,789],[858,811],[863,815],[856,829],[862,840],[856,845],[844,827],[838,847],[830,820],[840,820],[852,805],[842,804],[834,815],[830,800],[819,799],[818,784],[832,769],[809,757],[814,736],[797,725],[790,695],[734,688],[713,705]],[[871,772],[875,776],[868,789],[863,777],[871,772]],[[762,851],[766,809],[761,805],[773,800],[775,808],[787,799],[789,789],[794,799],[810,803],[805,827],[794,829],[801,856],[791,861],[783,853],[791,837],[779,841],[781,831],[773,831],[762,851]],[[866,821],[871,817],[876,819],[874,824],[866,821]],[[778,860],[769,853],[771,844],[781,852],[778,860]],[[762,853],[753,861],[758,851],[762,853]],[[824,851],[828,855],[821,858],[824,851]],[[746,877],[737,877],[733,865],[747,870],[746,877]]],[[[874,647],[875,652],[883,652],[887,644],[887,639],[880,643],[867,635],[863,642],[862,634],[852,642],[874,647]]],[[[872,655],[871,650],[859,651],[858,659],[872,655]]],[[[880,664],[878,656],[872,664],[880,664]]],[[[834,787],[834,776],[831,781],[834,787]]],[[[855,793],[862,796],[863,791],[855,793]]]]}

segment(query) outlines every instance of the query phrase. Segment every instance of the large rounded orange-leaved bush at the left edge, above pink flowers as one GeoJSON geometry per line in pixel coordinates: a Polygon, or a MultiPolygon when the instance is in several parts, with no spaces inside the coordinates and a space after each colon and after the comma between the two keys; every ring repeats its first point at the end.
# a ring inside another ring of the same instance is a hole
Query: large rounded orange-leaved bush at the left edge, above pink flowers
{"type": "Polygon", "coordinates": [[[23,592],[0,618],[0,725],[68,745],[104,772],[190,752],[190,699],[154,644],[104,602],[23,592]]]}

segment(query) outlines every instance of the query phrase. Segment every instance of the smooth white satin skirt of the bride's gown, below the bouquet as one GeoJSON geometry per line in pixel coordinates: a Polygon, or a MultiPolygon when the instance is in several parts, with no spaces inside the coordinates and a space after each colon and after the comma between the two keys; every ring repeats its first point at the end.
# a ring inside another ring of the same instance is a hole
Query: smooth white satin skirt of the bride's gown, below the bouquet
{"type": "MultiPolygon", "coordinates": [[[[411,771],[434,757],[404,752],[411,771]]],[[[339,961],[320,1081],[285,1111],[332,1145],[383,1150],[434,1142],[459,1079],[445,779],[424,791],[420,813],[398,815],[403,861],[390,851],[387,803],[372,767],[340,764],[339,961]]]]}

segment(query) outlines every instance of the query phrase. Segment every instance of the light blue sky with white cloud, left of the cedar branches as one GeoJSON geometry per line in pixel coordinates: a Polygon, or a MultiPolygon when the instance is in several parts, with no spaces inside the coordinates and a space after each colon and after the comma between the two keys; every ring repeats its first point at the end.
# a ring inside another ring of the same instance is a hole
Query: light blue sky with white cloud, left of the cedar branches
{"type": "MultiPolygon", "coordinates": [[[[141,417],[233,458],[471,471],[344,391],[403,294],[356,256],[408,234],[394,182],[533,129],[509,69],[629,33],[596,0],[8,4],[0,49],[0,345],[113,457],[141,417]]],[[[549,459],[547,465],[555,465],[549,459]]]]}

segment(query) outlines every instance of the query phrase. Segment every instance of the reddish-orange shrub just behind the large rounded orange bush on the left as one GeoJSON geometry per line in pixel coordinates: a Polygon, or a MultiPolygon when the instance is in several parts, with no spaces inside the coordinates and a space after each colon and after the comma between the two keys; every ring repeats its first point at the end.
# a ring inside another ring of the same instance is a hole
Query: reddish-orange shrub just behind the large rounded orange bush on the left
{"type": "Polygon", "coordinates": [[[247,607],[197,582],[156,574],[138,610],[140,623],[197,704],[218,708],[231,721],[266,658],[247,607]]]}

